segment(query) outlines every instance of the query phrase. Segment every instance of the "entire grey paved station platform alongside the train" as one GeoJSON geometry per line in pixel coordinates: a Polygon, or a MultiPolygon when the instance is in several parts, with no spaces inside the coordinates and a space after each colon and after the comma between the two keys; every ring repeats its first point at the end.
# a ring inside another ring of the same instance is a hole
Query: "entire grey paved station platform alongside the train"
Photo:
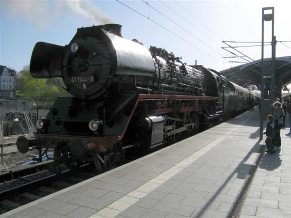
{"type": "Polygon", "coordinates": [[[281,136],[281,152],[265,154],[250,110],[0,217],[290,218],[289,126],[281,136]]]}

